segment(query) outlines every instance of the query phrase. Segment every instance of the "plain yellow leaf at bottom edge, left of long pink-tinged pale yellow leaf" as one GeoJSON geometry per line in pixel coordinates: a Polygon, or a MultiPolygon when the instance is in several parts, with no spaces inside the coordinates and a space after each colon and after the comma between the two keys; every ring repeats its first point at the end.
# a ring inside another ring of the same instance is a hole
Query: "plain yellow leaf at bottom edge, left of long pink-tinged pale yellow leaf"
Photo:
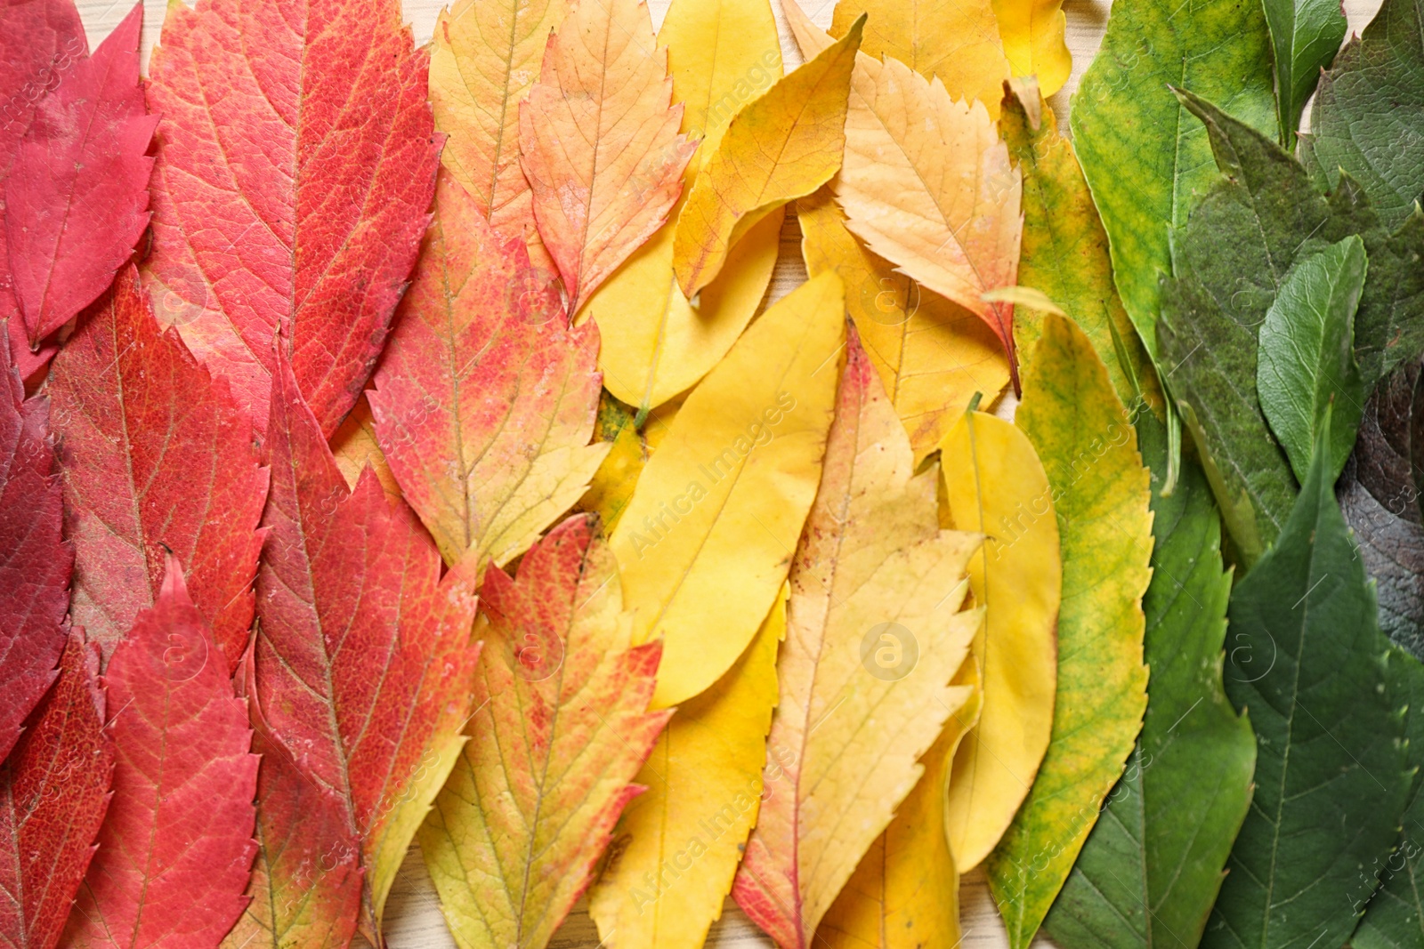
{"type": "Polygon", "coordinates": [[[609,949],[698,949],[756,822],[776,704],[785,588],[760,632],[715,686],[678,707],[624,810],[588,915],[609,949]]]}

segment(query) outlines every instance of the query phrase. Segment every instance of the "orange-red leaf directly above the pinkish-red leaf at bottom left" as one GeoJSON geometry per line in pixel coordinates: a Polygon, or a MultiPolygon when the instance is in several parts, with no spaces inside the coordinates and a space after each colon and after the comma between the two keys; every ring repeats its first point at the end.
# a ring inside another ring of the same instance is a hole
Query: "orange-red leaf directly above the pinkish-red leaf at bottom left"
{"type": "Polygon", "coordinates": [[[74,622],[105,657],[164,582],[165,548],[236,667],[252,626],[268,475],[224,378],[159,332],[130,266],[54,360],[48,391],[75,546],[74,622]]]}

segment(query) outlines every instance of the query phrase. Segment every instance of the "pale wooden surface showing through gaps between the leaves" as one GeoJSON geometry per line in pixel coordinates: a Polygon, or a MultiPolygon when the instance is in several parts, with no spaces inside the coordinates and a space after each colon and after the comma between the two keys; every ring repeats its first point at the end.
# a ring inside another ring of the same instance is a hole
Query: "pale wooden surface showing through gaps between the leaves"
{"type": "MultiPolygon", "coordinates": [[[[671,0],[648,0],[652,10],[654,27],[662,23],[664,13],[671,0]]],[[[790,37],[790,30],[782,16],[780,0],[770,0],[776,11],[776,20],[782,33],[782,54],[786,58],[786,68],[790,70],[802,63],[796,44],[790,37]]],[[[1068,48],[1074,55],[1072,77],[1061,92],[1052,97],[1051,104],[1058,112],[1059,128],[1068,131],[1068,101],[1084,70],[1092,61],[1098,46],[1102,43],[1102,31],[1108,24],[1108,9],[1112,0],[1065,0],[1064,10],[1068,17],[1068,48]]],[[[88,30],[90,48],[108,36],[108,31],[118,26],[132,9],[134,0],[78,0],[80,14],[88,30]]],[[[830,14],[834,0],[800,0],[802,9],[810,14],[812,20],[820,26],[830,24],[830,14]]],[[[404,0],[406,18],[414,30],[417,44],[429,43],[434,28],[436,16],[446,6],[444,0],[404,0]]],[[[1346,16],[1350,28],[1356,33],[1374,16],[1380,0],[1344,0],[1346,16]]],[[[165,0],[144,0],[144,63],[148,61],[148,51],[158,41],[158,31],[162,26],[165,0]]],[[[1307,112],[1309,121],[1309,112],[1307,112]]],[[[806,269],[800,260],[800,228],[795,215],[786,219],[782,232],[782,255],[773,279],[772,299],[779,299],[806,279],[806,269]]],[[[1011,414],[1012,405],[1001,408],[1001,414],[1011,414]]],[[[988,894],[984,876],[980,871],[965,875],[961,889],[961,913],[964,922],[964,949],[1007,949],[1008,940],[1004,926],[994,909],[994,902],[988,894]]],[[[396,878],[390,902],[386,909],[386,939],[392,949],[453,949],[454,940],[440,915],[439,901],[430,876],[426,874],[424,862],[420,859],[417,847],[412,847],[406,864],[396,878]]],[[[708,938],[709,949],[775,949],[752,925],[746,916],[729,899],[722,919],[712,926],[708,938]]],[[[554,936],[551,949],[597,949],[600,946],[598,932],[584,909],[582,901],[570,915],[568,921],[554,936]]],[[[934,949],[934,948],[927,948],[934,949]]],[[[1052,942],[1040,936],[1034,942],[1034,949],[1052,949],[1052,942]]]]}

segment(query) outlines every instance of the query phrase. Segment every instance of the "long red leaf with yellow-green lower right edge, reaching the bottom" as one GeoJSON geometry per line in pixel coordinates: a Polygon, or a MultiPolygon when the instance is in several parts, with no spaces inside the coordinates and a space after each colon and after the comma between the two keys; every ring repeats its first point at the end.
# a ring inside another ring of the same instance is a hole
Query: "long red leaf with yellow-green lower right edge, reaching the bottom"
{"type": "MultiPolygon", "coordinates": [[[[390,882],[461,743],[478,657],[473,572],[440,578],[430,535],[387,501],[370,468],[347,492],[285,360],[271,405],[256,721],[302,777],[335,795],[346,829],[320,849],[345,874],[365,871],[362,926],[375,942],[390,882]],[[347,837],[357,854],[342,852],[347,837]]],[[[273,838],[308,820],[271,801],[259,808],[273,838]]],[[[286,895],[318,885],[278,876],[300,868],[271,872],[286,895]]]]}

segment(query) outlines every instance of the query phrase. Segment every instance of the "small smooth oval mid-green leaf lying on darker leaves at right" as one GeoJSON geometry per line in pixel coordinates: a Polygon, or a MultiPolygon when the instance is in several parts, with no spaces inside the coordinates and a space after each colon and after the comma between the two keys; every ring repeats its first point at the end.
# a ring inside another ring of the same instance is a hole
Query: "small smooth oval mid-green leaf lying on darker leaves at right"
{"type": "Polygon", "coordinates": [[[1364,383],[1354,361],[1354,312],[1366,269],[1358,236],[1297,260],[1260,327],[1260,407],[1302,481],[1331,405],[1326,470],[1331,484],[1344,470],[1364,415],[1364,383]]]}

